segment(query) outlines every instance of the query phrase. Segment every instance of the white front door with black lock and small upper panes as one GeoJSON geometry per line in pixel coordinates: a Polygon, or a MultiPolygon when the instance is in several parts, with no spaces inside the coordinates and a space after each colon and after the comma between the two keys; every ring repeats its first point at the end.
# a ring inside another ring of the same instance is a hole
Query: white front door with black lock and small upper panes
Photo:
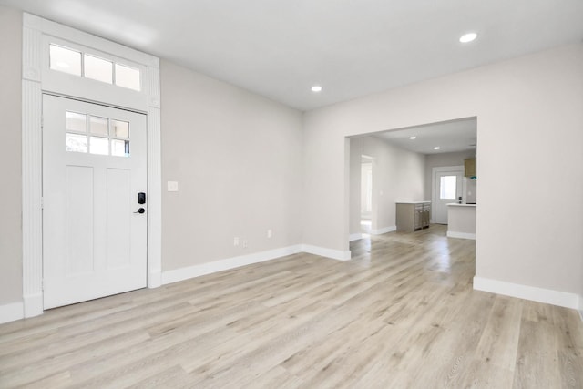
{"type": "Polygon", "coordinates": [[[43,96],[45,309],[146,287],[146,134],[145,115],[43,96]]]}

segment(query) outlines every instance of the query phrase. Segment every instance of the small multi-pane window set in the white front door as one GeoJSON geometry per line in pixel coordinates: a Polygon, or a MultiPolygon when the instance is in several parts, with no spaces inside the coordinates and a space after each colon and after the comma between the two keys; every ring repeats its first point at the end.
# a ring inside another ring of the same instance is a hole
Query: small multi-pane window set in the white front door
{"type": "Polygon", "coordinates": [[[66,111],[66,151],[129,157],[129,122],[66,111]]]}

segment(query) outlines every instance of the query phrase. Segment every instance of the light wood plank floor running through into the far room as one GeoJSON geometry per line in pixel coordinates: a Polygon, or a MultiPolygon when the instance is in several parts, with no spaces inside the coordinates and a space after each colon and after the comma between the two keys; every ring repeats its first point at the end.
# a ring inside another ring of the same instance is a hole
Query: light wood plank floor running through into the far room
{"type": "Polygon", "coordinates": [[[472,290],[443,226],[0,325],[0,387],[583,387],[578,312],[472,290]]]}

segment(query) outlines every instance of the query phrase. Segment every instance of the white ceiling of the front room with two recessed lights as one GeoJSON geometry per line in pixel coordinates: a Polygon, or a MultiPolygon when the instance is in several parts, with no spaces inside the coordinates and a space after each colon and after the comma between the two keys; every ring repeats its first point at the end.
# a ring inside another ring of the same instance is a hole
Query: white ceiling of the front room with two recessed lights
{"type": "Polygon", "coordinates": [[[583,39],[581,0],[0,0],[302,110],[583,39]],[[471,44],[459,36],[476,31],[471,44]],[[319,84],[319,94],[310,87],[319,84]]]}

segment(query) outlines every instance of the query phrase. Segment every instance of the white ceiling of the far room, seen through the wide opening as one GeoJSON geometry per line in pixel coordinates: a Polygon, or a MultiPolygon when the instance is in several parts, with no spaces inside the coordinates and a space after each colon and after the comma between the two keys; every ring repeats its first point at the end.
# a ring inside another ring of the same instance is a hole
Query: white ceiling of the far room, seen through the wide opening
{"type": "Polygon", "coordinates": [[[476,118],[465,118],[372,135],[416,153],[440,154],[476,150],[476,129],[476,118]],[[439,149],[435,150],[435,147],[439,149]]]}

